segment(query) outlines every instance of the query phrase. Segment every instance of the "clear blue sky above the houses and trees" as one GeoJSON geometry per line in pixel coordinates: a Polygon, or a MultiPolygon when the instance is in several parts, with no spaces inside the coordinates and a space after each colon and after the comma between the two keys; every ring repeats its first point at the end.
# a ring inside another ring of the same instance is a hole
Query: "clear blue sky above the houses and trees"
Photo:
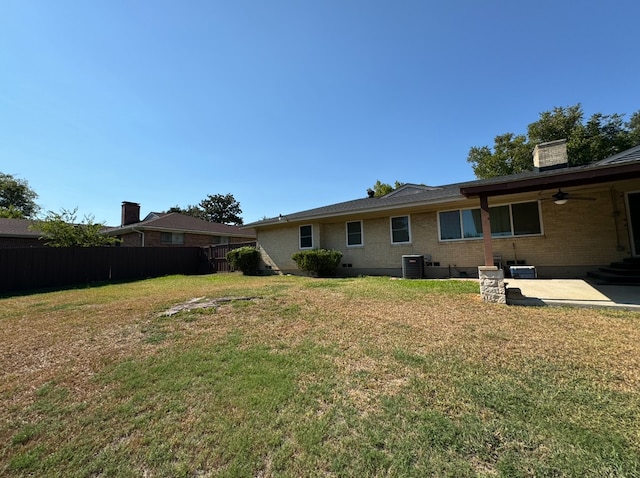
{"type": "Polygon", "coordinates": [[[245,223],[473,179],[555,106],[640,109],[640,2],[1,0],[0,172],[119,225],[231,193],[245,223]]]}

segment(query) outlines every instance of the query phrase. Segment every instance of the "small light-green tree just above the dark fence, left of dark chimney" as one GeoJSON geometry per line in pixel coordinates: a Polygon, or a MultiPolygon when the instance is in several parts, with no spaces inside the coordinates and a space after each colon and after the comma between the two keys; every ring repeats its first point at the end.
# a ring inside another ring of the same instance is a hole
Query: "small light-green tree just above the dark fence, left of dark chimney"
{"type": "Polygon", "coordinates": [[[111,246],[118,239],[104,234],[104,224],[96,223],[92,216],[77,222],[77,208],[73,211],[49,211],[44,219],[36,221],[32,229],[40,231],[40,239],[51,247],[111,246]]]}

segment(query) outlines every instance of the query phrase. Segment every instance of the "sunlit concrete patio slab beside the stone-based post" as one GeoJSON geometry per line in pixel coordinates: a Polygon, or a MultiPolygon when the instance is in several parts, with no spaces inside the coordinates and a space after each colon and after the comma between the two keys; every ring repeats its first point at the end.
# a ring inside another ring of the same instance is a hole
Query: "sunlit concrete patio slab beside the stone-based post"
{"type": "Polygon", "coordinates": [[[614,307],[640,311],[638,286],[596,285],[581,279],[505,278],[504,281],[507,303],[512,305],[614,307]]]}

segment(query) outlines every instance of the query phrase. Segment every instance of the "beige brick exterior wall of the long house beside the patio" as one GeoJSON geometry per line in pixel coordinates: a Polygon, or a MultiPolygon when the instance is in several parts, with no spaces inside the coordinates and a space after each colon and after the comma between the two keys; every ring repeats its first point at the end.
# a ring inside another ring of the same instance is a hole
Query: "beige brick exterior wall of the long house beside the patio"
{"type": "MultiPolygon", "coordinates": [[[[618,186],[613,192],[608,188],[591,189],[582,195],[595,201],[569,200],[556,205],[553,201],[540,202],[543,234],[532,237],[494,238],[495,254],[501,254],[503,264],[511,260],[524,260],[536,267],[589,268],[607,265],[630,254],[629,234],[624,220],[624,191],[639,190],[640,181],[618,186]],[[615,211],[620,214],[616,217],[615,211]]],[[[551,193],[546,194],[550,196],[551,193]]],[[[537,200],[532,195],[524,200],[537,200]]],[[[523,200],[519,198],[519,200],[523,200]]],[[[501,200],[500,203],[508,203],[501,200]]],[[[498,201],[491,202],[498,204],[498,201]]],[[[469,202],[468,207],[477,202],[469,202]]],[[[449,209],[446,206],[442,210],[449,209]]],[[[394,213],[393,215],[401,215],[394,213]]],[[[379,269],[397,272],[402,267],[405,254],[430,255],[443,268],[475,270],[484,263],[482,240],[440,242],[438,240],[437,210],[410,213],[411,244],[392,245],[390,215],[363,220],[362,247],[346,246],[346,220],[336,219],[322,224],[314,223],[314,247],[338,249],[343,253],[342,262],[351,264],[351,270],[379,269]]],[[[358,220],[357,217],[348,220],[358,220]]],[[[295,272],[291,255],[298,251],[300,224],[277,225],[258,230],[258,244],[266,265],[283,272],[295,272]]]]}

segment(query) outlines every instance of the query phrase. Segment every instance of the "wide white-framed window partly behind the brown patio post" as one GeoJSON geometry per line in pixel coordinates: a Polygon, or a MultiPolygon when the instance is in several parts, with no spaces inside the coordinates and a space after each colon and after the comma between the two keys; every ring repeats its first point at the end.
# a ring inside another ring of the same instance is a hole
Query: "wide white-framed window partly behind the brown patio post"
{"type": "MultiPolygon", "coordinates": [[[[489,208],[492,237],[531,236],[542,233],[537,201],[489,208]]],[[[441,241],[482,237],[480,209],[458,209],[438,213],[441,241]]]]}

